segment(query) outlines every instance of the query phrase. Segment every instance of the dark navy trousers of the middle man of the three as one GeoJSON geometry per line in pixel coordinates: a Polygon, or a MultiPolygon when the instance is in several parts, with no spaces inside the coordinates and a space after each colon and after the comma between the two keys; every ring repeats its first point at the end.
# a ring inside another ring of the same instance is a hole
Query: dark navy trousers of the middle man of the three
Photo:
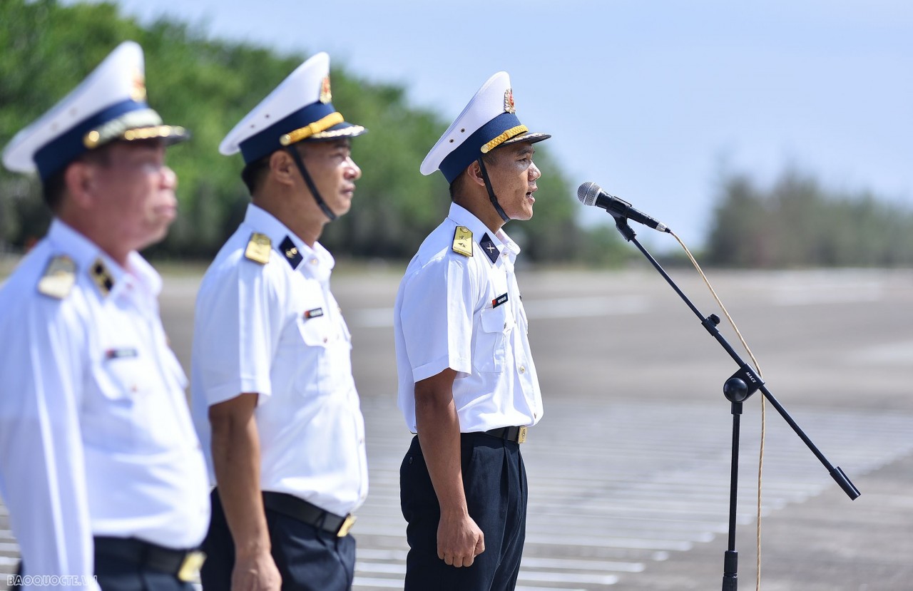
{"type": "MultiPolygon", "coordinates": [[[[204,591],[231,588],[235,543],[217,491],[213,516],[203,543],[206,562],[200,571],[204,591]]],[[[282,591],[349,591],[355,573],[355,538],[337,537],[313,525],[266,510],[273,560],[282,575],[282,591]]]]}

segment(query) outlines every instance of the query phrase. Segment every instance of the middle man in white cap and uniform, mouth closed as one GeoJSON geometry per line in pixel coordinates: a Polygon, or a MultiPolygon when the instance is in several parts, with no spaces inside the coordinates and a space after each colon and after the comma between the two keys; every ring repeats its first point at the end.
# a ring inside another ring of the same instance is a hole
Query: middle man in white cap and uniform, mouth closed
{"type": "Polygon", "coordinates": [[[351,337],[317,242],[362,171],[317,54],[222,141],[253,202],[196,300],[194,420],[217,488],[206,591],[352,587],[355,511],[368,492],[351,337]],[[210,446],[211,445],[211,446],[210,446]]]}

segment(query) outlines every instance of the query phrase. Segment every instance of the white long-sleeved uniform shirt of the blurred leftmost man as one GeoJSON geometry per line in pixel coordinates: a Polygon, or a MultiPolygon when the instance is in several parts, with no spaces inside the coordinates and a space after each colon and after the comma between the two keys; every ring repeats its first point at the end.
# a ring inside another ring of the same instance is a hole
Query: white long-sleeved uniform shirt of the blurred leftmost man
{"type": "Polygon", "coordinates": [[[26,575],[92,575],[92,535],[203,541],[205,462],[159,318],[161,286],[140,254],[121,268],[56,220],[0,289],[0,496],[26,575]],[[75,285],[43,295],[38,282],[60,254],[75,285]],[[97,261],[107,295],[89,275],[97,261]]]}

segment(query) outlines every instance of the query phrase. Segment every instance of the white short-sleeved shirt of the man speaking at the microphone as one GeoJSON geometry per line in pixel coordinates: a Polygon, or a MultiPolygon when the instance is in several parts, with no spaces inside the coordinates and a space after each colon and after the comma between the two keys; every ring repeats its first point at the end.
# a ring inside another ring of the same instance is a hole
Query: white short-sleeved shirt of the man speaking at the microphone
{"type": "Polygon", "coordinates": [[[452,203],[409,263],[394,306],[399,408],[409,430],[416,431],[415,382],[446,368],[457,372],[460,431],[541,419],[539,378],[514,275],[517,254],[519,246],[503,230],[492,233],[452,203]],[[454,252],[457,226],[472,232],[472,256],[454,252]]]}

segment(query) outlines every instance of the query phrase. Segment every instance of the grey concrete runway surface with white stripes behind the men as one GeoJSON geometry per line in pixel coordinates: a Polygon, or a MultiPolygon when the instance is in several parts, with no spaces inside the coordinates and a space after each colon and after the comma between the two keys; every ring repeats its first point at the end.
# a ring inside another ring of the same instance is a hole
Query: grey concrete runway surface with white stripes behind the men
{"type": "MultiPolygon", "coordinates": [[[[402,588],[392,308],[404,266],[339,264],[371,493],[353,529],[356,591],[402,588]]],[[[688,267],[670,271],[719,314],[688,267]]],[[[913,271],[709,271],[771,393],[862,492],[850,501],[770,403],[761,589],[913,589],[913,271]]],[[[197,272],[165,273],[166,330],[189,367],[197,272]]],[[[714,589],[727,549],[734,362],[652,268],[519,271],[545,416],[530,474],[521,591],[714,589]]],[[[724,318],[720,330],[748,359],[724,318]]],[[[755,587],[760,393],[744,403],[736,549],[755,587]]],[[[16,544],[0,506],[0,573],[16,544]]],[[[0,589],[5,588],[5,576],[0,589]]]]}

